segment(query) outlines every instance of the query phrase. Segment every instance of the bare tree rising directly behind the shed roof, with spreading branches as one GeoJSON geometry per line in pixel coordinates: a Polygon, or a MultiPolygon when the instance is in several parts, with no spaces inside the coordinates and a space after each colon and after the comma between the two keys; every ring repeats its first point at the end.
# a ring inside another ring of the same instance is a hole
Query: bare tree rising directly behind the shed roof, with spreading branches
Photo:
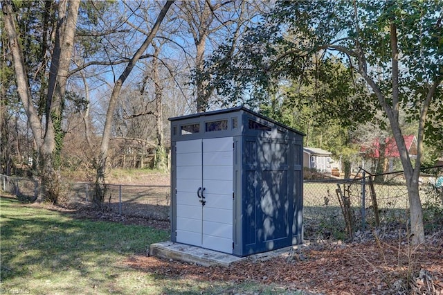
{"type": "Polygon", "coordinates": [[[195,103],[197,111],[206,111],[215,95],[215,85],[205,69],[208,53],[224,42],[231,43],[230,54],[246,25],[268,8],[268,1],[183,1],[180,7],[181,18],[187,24],[187,33],[194,41],[195,103]]]}

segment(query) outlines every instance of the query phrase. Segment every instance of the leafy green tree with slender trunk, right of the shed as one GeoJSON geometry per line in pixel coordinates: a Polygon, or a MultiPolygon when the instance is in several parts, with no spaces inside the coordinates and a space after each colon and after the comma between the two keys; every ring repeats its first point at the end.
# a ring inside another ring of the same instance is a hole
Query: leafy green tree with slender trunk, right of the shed
{"type": "MultiPolygon", "coordinates": [[[[280,78],[303,78],[309,57],[318,52],[343,57],[354,80],[370,92],[364,100],[382,109],[399,148],[410,204],[412,242],[424,242],[418,178],[424,139],[441,141],[443,34],[440,1],[280,1],[266,22],[244,39],[234,60],[214,74],[230,98],[262,98],[275,93],[280,78]],[[267,40],[268,42],[264,42],[267,40]],[[228,75],[221,79],[220,75],[228,75]],[[246,73],[249,73],[247,75],[246,73]],[[417,161],[411,161],[399,125],[400,110],[418,122],[417,161]]],[[[225,50],[227,50],[226,47],[225,50]]],[[[224,52],[213,56],[217,64],[224,52]]],[[[322,101],[325,97],[320,98],[322,101]]],[[[359,102],[359,100],[352,100],[359,102]]],[[[366,116],[360,108],[354,109],[366,116]]],[[[346,113],[345,113],[346,114],[346,113]]],[[[372,116],[372,114],[370,114],[372,116]]]]}

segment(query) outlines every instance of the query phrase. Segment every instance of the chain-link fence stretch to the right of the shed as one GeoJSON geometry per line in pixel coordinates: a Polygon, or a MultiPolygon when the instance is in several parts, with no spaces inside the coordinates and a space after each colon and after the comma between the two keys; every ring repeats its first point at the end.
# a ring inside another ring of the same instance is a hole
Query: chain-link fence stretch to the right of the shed
{"type": "MultiPolygon", "coordinates": [[[[442,167],[423,170],[419,197],[424,209],[425,231],[443,225],[442,167]]],[[[409,201],[404,172],[368,175],[354,179],[304,181],[304,237],[352,239],[372,229],[407,231],[409,201]]]]}

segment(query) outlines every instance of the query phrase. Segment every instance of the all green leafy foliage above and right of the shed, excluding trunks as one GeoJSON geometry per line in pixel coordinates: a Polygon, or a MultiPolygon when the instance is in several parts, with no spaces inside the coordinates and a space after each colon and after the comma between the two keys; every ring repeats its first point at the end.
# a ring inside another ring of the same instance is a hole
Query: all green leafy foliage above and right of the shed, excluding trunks
{"type": "MultiPolygon", "coordinates": [[[[375,116],[379,97],[359,74],[375,81],[388,107],[394,107],[392,22],[400,53],[399,102],[406,119],[417,122],[430,85],[442,80],[439,3],[278,1],[262,24],[248,30],[241,46],[233,48],[228,41],[213,53],[206,76],[229,103],[274,107],[275,97],[283,97],[279,118],[305,132],[306,125],[378,125],[383,123],[375,116]],[[233,49],[238,52],[229,55],[233,49]]],[[[440,83],[428,110],[428,144],[443,142],[442,91],[440,83]]]]}

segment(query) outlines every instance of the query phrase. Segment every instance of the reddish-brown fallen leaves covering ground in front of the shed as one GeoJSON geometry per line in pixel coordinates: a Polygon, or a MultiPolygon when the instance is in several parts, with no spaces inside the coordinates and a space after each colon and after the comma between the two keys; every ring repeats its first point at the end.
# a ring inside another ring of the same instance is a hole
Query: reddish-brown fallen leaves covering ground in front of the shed
{"type": "Polygon", "coordinates": [[[248,258],[230,267],[202,267],[147,256],[132,256],[125,263],[172,278],[257,281],[323,294],[403,294],[414,288],[419,292],[416,294],[443,294],[443,242],[426,244],[414,251],[404,246],[399,249],[396,242],[383,242],[382,247],[376,242],[322,250],[306,247],[265,261],[248,258]],[[408,278],[410,285],[406,284],[408,278]]]}

